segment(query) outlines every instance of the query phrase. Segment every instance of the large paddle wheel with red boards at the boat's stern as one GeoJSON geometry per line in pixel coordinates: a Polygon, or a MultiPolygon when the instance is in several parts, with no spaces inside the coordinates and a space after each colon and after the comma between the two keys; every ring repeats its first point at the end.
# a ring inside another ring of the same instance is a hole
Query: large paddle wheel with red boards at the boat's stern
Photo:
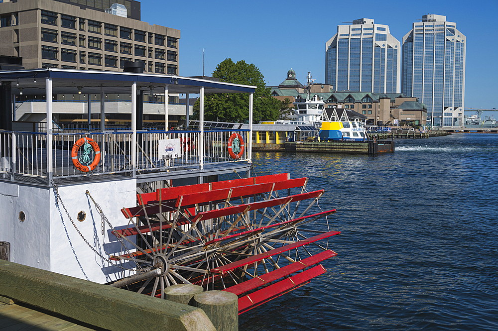
{"type": "Polygon", "coordinates": [[[111,259],[139,272],[114,286],[160,298],[181,283],[229,291],[241,314],[309,283],[337,255],[319,241],[340,232],[310,228],[336,210],[307,215],[324,192],[307,192],[307,181],[285,173],[138,194],[138,206],[122,210],[128,226],[115,231],[135,251],[111,259]]]}

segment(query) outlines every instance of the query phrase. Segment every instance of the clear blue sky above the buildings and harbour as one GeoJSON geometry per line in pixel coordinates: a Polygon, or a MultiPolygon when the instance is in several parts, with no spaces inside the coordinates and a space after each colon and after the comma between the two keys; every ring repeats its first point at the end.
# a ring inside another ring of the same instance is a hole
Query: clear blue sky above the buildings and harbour
{"type": "Polygon", "coordinates": [[[428,13],[446,15],[467,37],[465,109],[498,108],[497,0],[141,1],[142,21],[181,31],[180,76],[203,74],[204,49],[205,76],[226,58],[244,60],[259,68],[267,86],[284,81],[291,68],[302,84],[308,71],[316,83],[325,83],[325,43],[343,22],[373,18],[402,42],[428,13]]]}

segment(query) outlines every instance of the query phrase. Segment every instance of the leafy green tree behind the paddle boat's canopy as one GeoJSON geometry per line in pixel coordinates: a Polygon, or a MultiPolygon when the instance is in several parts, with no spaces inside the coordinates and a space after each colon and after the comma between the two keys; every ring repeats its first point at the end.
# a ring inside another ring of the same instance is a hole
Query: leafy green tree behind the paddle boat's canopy
{"type": "MultiPolygon", "coordinates": [[[[228,58],[216,66],[213,77],[222,82],[256,86],[253,96],[252,119],[276,120],[280,115],[280,101],[270,95],[270,88],[264,84],[259,69],[241,60],[234,63],[228,58]]],[[[194,105],[193,117],[199,118],[199,100],[194,105]]],[[[204,97],[204,119],[223,122],[244,122],[249,120],[249,94],[206,94],[204,97]]]]}

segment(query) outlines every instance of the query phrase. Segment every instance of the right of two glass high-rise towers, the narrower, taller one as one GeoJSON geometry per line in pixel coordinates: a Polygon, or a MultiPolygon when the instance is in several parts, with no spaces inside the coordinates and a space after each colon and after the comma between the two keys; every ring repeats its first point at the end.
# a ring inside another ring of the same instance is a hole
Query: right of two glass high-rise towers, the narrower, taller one
{"type": "Polygon", "coordinates": [[[427,105],[427,123],[461,126],[466,37],[446,16],[427,14],[403,37],[402,93],[427,105]]]}

